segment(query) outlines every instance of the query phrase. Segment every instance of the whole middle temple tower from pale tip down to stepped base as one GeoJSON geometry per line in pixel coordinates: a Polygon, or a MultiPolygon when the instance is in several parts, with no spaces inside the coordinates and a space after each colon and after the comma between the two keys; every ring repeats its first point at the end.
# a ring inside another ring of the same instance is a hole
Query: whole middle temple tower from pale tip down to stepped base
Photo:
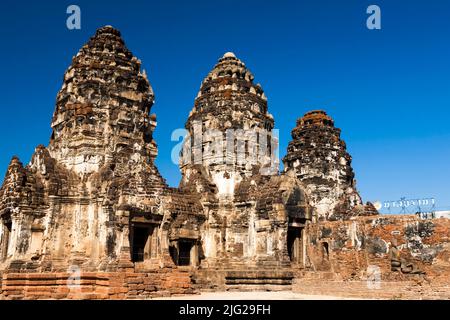
{"type": "Polygon", "coordinates": [[[225,53],[204,79],[186,123],[180,189],[204,195],[201,267],[212,271],[201,271],[198,281],[214,285],[292,279],[286,268],[290,256],[301,260],[301,228],[311,215],[298,181],[277,174],[274,120],[253,80],[242,61],[225,53]]]}

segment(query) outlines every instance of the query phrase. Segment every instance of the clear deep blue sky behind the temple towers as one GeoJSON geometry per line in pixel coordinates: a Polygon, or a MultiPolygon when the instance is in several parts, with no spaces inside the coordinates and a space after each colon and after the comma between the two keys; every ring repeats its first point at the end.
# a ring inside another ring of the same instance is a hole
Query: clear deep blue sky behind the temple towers
{"type": "Polygon", "coordinates": [[[430,197],[450,207],[450,1],[2,1],[0,171],[48,144],[64,71],[96,28],[120,29],[156,95],[157,165],[171,185],[172,130],[226,51],[269,99],[284,156],[310,109],[342,129],[364,200],[430,197]],[[47,3],[47,4],[46,4],[47,3]],[[81,30],[66,8],[81,7],[81,30]],[[366,8],[382,30],[366,28],[366,8]]]}

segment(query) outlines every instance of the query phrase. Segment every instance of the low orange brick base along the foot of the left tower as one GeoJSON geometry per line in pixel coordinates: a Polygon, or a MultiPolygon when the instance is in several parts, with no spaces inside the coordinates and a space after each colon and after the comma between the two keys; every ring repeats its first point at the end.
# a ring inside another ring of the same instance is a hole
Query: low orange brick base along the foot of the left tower
{"type": "Polygon", "coordinates": [[[180,270],[133,272],[5,273],[0,299],[147,299],[188,294],[190,273],[180,270]]]}

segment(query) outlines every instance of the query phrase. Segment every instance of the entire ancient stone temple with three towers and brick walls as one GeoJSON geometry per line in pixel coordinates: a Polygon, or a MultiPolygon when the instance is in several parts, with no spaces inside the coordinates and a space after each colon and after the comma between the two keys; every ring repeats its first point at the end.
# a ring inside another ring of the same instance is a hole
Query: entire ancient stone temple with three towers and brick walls
{"type": "Polygon", "coordinates": [[[297,121],[279,172],[266,95],[233,53],[201,84],[177,188],[154,164],[153,102],[120,32],[98,29],[64,75],[48,146],[6,172],[1,298],[305,290],[323,274],[364,279],[372,265],[389,279],[448,269],[447,221],[364,205],[324,111],[297,121]]]}

